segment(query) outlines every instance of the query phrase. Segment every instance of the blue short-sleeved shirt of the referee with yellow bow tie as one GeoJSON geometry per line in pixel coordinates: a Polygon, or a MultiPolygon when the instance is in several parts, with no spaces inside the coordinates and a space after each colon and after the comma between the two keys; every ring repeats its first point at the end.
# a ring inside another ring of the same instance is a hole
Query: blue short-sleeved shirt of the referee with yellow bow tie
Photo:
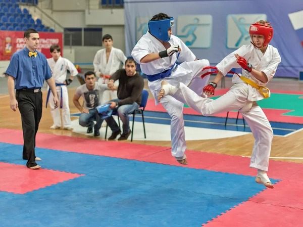
{"type": "Polygon", "coordinates": [[[5,73],[15,78],[15,89],[38,89],[43,86],[44,80],[52,77],[45,55],[37,52],[37,57],[29,57],[26,47],[13,54],[5,73]]]}

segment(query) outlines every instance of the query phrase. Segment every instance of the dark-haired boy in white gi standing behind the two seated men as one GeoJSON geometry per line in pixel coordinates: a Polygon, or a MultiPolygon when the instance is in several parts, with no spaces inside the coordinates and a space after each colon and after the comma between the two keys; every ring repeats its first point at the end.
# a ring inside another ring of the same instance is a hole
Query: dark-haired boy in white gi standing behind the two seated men
{"type": "MultiPolygon", "coordinates": [[[[113,37],[106,34],[102,37],[102,42],[104,49],[97,51],[93,59],[94,72],[97,77],[99,77],[99,83],[108,83],[109,78],[113,75],[120,67],[122,62],[123,68],[124,62],[126,61],[126,56],[123,51],[113,47],[113,37]]],[[[119,81],[115,82],[115,85],[119,85],[119,81]]],[[[100,102],[106,103],[112,99],[118,99],[116,90],[106,90],[101,97],[100,102]]]]}

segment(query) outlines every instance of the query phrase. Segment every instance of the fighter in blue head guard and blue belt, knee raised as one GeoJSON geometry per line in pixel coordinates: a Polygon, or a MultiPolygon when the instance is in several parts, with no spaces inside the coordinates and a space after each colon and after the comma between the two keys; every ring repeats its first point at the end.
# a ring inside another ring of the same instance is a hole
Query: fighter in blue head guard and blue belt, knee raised
{"type": "MultiPolygon", "coordinates": [[[[198,96],[203,94],[203,87],[208,83],[209,75],[200,78],[209,69],[204,67],[210,65],[208,60],[197,60],[194,54],[186,47],[182,40],[172,35],[171,27],[174,19],[167,14],[159,13],[149,22],[149,31],[144,34],[132,50],[132,57],[141,66],[142,72],[148,79],[150,92],[157,99],[163,79],[171,84],[179,82],[189,85],[198,96]],[[180,65],[176,63],[180,62],[180,65]]],[[[156,105],[159,104],[155,100],[156,105]]],[[[186,165],[185,131],[183,120],[183,103],[170,96],[161,99],[163,107],[172,117],[171,141],[172,155],[181,164],[186,165]]]]}

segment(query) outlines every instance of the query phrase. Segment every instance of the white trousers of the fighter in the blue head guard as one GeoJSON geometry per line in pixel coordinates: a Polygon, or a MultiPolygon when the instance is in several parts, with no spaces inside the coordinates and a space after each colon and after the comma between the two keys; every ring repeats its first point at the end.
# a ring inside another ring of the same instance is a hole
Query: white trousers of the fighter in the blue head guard
{"type": "MultiPolygon", "coordinates": [[[[204,67],[210,66],[208,60],[198,60],[187,62],[189,67],[192,69],[192,80],[189,88],[193,90],[194,94],[197,96],[203,93],[203,88],[208,84],[210,75],[205,76],[201,79],[201,75],[209,72],[209,69],[202,71],[204,67]]],[[[182,76],[180,76],[182,77],[182,76]]],[[[173,77],[171,78],[173,79],[173,77]]],[[[176,78],[176,80],[180,78],[176,78]]],[[[163,79],[165,80],[165,78],[163,79]]],[[[155,97],[158,99],[158,94],[155,97]]],[[[172,141],[172,156],[176,157],[178,160],[183,159],[186,150],[185,142],[185,130],[184,130],[184,119],[183,119],[183,106],[182,102],[177,101],[171,96],[165,96],[161,99],[162,106],[166,109],[168,114],[171,116],[171,141],[172,141]]]]}

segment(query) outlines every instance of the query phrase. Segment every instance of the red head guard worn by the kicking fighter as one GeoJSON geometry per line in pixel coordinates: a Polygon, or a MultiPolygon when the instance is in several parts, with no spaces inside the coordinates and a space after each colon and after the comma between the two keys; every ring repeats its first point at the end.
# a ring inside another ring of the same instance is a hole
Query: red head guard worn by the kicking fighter
{"type": "MultiPolygon", "coordinates": [[[[260,23],[257,22],[255,24],[250,25],[249,27],[249,34],[251,37],[251,41],[252,41],[252,35],[264,35],[264,43],[263,43],[263,47],[266,47],[267,44],[270,42],[270,40],[273,37],[274,34],[274,29],[270,26],[269,23],[265,22],[260,23]]],[[[255,47],[257,47],[254,42],[251,42],[255,47]]]]}

